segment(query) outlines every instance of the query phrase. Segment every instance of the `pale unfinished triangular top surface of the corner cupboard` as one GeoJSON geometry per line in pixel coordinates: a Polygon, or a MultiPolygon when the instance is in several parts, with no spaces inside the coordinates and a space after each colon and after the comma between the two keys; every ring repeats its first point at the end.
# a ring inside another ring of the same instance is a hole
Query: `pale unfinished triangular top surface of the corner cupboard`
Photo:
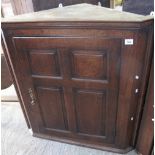
{"type": "Polygon", "coordinates": [[[153,17],[83,3],[3,18],[2,23],[41,21],[143,22],[150,19],[153,17]]]}

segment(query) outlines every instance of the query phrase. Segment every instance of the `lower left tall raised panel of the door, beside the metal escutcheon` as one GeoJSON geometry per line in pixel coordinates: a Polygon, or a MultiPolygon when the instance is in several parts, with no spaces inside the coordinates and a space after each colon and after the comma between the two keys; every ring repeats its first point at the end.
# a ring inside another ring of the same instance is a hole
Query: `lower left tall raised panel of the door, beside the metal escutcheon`
{"type": "Polygon", "coordinates": [[[66,110],[62,89],[37,87],[36,90],[45,128],[66,130],[66,110]]]}

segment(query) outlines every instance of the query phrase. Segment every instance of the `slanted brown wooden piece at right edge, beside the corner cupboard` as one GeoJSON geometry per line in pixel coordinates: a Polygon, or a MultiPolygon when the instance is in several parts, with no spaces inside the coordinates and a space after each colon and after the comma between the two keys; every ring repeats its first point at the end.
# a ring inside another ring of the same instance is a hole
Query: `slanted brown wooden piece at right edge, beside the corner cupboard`
{"type": "Polygon", "coordinates": [[[154,63],[152,61],[147,96],[144,105],[136,149],[142,155],[150,155],[154,138],[154,63]]]}

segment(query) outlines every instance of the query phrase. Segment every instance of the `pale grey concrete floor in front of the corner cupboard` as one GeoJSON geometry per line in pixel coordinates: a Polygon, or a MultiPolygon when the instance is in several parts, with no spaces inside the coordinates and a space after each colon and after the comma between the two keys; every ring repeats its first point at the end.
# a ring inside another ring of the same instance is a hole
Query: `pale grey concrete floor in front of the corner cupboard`
{"type": "MultiPolygon", "coordinates": [[[[19,103],[1,104],[2,155],[119,155],[32,137],[19,103]]],[[[134,151],[126,155],[136,155],[134,151]]]]}

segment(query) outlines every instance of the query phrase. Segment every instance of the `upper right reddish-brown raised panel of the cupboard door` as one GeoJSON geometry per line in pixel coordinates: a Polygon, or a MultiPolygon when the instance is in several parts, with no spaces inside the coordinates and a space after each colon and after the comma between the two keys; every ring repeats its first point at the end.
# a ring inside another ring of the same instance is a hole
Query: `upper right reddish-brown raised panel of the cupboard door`
{"type": "Polygon", "coordinates": [[[107,51],[79,50],[71,54],[72,76],[86,79],[107,79],[107,51]]]}

